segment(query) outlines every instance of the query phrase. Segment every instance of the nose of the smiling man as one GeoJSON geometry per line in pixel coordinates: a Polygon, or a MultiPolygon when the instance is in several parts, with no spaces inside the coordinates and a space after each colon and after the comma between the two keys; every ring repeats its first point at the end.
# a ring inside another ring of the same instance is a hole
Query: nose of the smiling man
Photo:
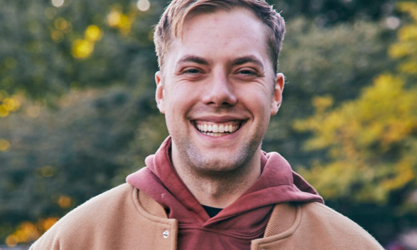
{"type": "Polygon", "coordinates": [[[216,74],[207,84],[202,101],[215,107],[233,106],[237,102],[234,86],[225,74],[216,74]]]}

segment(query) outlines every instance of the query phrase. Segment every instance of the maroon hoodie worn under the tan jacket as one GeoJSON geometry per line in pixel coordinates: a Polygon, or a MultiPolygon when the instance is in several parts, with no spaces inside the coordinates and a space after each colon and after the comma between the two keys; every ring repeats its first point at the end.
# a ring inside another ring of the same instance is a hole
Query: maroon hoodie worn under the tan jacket
{"type": "Polygon", "coordinates": [[[234,203],[210,218],[173,168],[171,137],[149,155],[145,168],[126,181],[148,194],[178,220],[178,249],[250,249],[251,240],[264,235],[276,203],[323,199],[278,153],[261,154],[262,173],[234,203]]]}

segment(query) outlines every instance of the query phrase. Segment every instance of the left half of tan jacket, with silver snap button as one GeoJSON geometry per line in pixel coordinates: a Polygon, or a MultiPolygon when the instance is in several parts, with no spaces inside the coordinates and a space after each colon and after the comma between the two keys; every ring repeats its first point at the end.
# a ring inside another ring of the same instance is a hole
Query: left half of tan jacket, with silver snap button
{"type": "Polygon", "coordinates": [[[126,183],[91,198],[58,220],[30,250],[171,249],[177,222],[164,208],[126,183]],[[165,216],[164,216],[165,215],[165,216]],[[171,240],[163,238],[170,230],[171,240]]]}

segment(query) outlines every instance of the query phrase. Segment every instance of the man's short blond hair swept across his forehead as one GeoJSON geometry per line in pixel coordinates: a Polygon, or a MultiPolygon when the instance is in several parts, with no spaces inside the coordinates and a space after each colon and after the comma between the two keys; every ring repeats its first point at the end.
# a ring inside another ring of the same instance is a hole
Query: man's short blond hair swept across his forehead
{"type": "Polygon", "coordinates": [[[266,27],[267,45],[274,71],[284,40],[284,18],[264,0],[173,0],[163,12],[153,34],[159,69],[162,70],[173,38],[181,37],[182,27],[190,13],[213,13],[243,7],[251,10],[266,27]]]}

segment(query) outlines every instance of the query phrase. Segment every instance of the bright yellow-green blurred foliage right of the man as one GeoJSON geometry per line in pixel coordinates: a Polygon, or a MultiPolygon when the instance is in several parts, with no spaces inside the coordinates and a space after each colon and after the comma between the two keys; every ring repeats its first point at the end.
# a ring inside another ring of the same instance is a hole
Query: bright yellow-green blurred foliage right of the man
{"type": "Polygon", "coordinates": [[[403,85],[380,75],[357,99],[332,110],[330,97],[317,97],[315,115],[295,123],[314,133],[306,150],[327,149],[329,163],[300,172],[325,198],[386,203],[392,191],[415,182],[417,88],[403,85]]]}

